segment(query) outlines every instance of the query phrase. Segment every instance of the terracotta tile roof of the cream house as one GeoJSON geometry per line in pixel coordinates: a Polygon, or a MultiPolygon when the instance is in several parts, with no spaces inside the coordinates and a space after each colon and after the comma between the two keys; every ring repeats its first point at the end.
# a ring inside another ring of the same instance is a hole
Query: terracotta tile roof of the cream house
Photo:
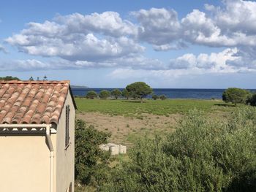
{"type": "Polygon", "coordinates": [[[1,81],[0,123],[58,123],[69,81],[1,81]]]}

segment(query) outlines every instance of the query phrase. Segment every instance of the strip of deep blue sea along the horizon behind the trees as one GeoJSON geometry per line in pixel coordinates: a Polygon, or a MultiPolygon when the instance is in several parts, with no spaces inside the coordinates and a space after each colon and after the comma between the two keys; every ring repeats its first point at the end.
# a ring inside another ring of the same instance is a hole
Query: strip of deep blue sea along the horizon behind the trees
{"type": "MultiPolygon", "coordinates": [[[[72,88],[72,93],[74,96],[85,96],[88,91],[99,93],[103,89],[113,90],[113,88],[72,88]]],[[[123,90],[123,88],[119,89],[123,90]]],[[[222,93],[225,89],[154,88],[153,91],[157,95],[164,94],[171,99],[222,99],[222,93]]]]}

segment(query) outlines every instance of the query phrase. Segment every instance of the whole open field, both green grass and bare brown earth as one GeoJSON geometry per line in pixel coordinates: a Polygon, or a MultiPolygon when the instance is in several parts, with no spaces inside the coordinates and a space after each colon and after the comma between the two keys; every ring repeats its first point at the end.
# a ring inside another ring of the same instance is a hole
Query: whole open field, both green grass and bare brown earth
{"type": "MultiPolygon", "coordinates": [[[[221,100],[145,99],[143,103],[125,99],[75,99],[77,118],[99,131],[111,134],[109,142],[131,147],[140,137],[170,133],[190,110],[200,110],[209,119],[225,118],[234,110],[221,100]]],[[[239,105],[237,106],[239,107],[239,105]]]]}

